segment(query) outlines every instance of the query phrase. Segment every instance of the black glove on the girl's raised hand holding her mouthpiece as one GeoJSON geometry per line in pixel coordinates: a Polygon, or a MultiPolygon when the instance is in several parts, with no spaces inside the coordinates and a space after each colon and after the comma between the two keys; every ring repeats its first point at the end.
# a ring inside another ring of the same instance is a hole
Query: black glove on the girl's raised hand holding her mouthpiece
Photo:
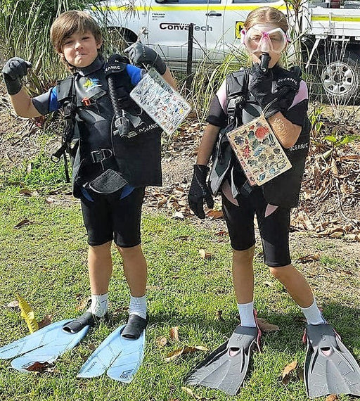
{"type": "Polygon", "coordinates": [[[269,108],[265,110],[265,118],[269,118],[271,115],[281,111],[281,106],[278,103],[276,95],[271,91],[273,84],[273,72],[271,68],[263,71],[258,63],[254,63],[250,75],[249,91],[255,97],[262,110],[271,103],[269,108]]]}

